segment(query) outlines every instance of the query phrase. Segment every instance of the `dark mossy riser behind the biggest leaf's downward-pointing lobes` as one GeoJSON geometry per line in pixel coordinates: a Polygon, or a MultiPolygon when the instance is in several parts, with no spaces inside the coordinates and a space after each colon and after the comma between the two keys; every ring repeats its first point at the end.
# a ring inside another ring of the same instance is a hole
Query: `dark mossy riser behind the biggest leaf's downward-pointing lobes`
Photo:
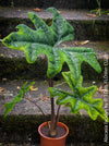
{"type": "MultiPolygon", "coordinates": [[[[97,73],[92,66],[89,66],[87,63],[82,64],[82,75],[84,80],[90,80],[90,81],[102,81],[104,80],[104,60],[99,60],[99,63],[101,65],[101,73],[97,73]]],[[[109,69],[109,66],[108,66],[109,69]]],[[[62,71],[68,71],[69,68],[64,63],[62,71]]],[[[33,64],[28,64],[25,60],[25,58],[16,59],[7,59],[7,58],[0,58],[0,80],[3,77],[7,77],[9,80],[33,80],[33,78],[39,78],[45,80],[47,78],[47,64],[45,59],[37,59],[37,61],[33,64]]],[[[62,75],[61,73],[57,74],[55,80],[61,80],[62,75]]]]}

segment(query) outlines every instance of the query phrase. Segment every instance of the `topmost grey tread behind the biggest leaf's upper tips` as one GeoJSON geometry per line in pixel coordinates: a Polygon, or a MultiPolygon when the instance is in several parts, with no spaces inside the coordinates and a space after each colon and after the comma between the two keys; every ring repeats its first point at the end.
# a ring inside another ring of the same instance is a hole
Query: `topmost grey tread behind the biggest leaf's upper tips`
{"type": "MultiPolygon", "coordinates": [[[[33,8],[34,9],[34,8],[33,8]]],[[[26,8],[2,8],[0,9],[0,16],[1,17],[21,17],[21,19],[27,19],[27,12],[35,12],[33,9],[26,9],[26,8]]],[[[37,15],[41,19],[51,19],[52,14],[50,12],[47,12],[45,9],[41,9],[40,12],[35,12],[37,15]]],[[[87,13],[89,13],[88,10],[64,10],[60,9],[60,13],[62,14],[62,17],[65,20],[106,20],[109,21],[109,16],[107,14],[101,15],[100,17],[92,17],[88,16],[87,13]]]]}

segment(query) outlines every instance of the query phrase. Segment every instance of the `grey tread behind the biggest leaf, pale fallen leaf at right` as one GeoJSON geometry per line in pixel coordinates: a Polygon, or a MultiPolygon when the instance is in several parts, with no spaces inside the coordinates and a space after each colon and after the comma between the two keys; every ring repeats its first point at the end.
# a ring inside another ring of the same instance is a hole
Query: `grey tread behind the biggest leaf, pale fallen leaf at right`
{"type": "MultiPolygon", "coordinates": [[[[98,59],[104,59],[105,54],[109,58],[109,41],[87,41],[85,45],[82,45],[84,41],[71,40],[65,41],[59,45],[60,47],[86,47],[93,48],[94,51],[97,53],[98,59]]],[[[25,54],[23,51],[12,50],[4,47],[0,44],[0,57],[3,58],[24,58],[25,54]]],[[[41,56],[43,57],[43,56],[41,56]]]]}

